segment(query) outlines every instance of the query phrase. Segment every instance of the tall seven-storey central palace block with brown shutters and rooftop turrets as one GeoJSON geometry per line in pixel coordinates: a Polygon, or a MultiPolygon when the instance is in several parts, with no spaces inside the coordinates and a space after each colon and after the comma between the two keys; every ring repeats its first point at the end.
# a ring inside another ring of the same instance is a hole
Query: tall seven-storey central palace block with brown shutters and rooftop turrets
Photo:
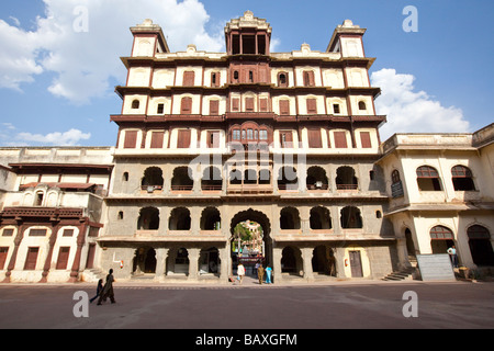
{"type": "Polygon", "coordinates": [[[250,11],[226,24],[226,53],[171,53],[150,20],[131,31],[102,267],[226,282],[249,219],[277,281],[393,270],[364,29],[345,21],[326,52],[291,53],[270,53],[250,11]]]}

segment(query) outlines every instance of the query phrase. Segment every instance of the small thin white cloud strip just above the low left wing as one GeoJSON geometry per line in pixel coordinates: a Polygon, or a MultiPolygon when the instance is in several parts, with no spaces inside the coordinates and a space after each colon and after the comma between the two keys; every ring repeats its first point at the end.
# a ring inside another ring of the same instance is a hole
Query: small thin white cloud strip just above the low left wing
{"type": "Polygon", "coordinates": [[[19,133],[15,135],[15,144],[31,145],[33,141],[41,145],[72,146],[78,145],[80,140],[87,140],[91,137],[90,133],[82,133],[79,129],[71,128],[67,132],[53,132],[46,135],[19,133]]]}

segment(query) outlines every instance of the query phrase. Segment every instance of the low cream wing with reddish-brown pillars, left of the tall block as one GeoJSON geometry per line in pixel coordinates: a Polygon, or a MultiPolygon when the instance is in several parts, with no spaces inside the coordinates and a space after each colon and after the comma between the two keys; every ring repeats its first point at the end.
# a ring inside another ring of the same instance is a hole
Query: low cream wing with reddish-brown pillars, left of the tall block
{"type": "Polygon", "coordinates": [[[1,148],[0,160],[0,280],[79,281],[97,263],[111,148],[1,148]]]}

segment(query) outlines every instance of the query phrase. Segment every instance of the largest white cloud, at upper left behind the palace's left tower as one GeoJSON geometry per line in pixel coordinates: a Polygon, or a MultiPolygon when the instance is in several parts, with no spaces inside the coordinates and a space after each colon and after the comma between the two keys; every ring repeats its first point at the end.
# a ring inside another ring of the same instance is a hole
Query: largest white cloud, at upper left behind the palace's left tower
{"type": "Polygon", "coordinates": [[[48,91],[76,104],[113,94],[112,79],[125,82],[120,57],[132,49],[128,27],[148,18],[161,25],[172,50],[184,50],[188,44],[220,50],[224,45],[220,32],[206,33],[210,16],[199,0],[44,2],[45,14],[37,18],[33,32],[0,20],[0,87],[21,90],[35,75],[50,71],[55,78],[48,91]],[[76,10],[81,8],[86,11],[76,10]]]}

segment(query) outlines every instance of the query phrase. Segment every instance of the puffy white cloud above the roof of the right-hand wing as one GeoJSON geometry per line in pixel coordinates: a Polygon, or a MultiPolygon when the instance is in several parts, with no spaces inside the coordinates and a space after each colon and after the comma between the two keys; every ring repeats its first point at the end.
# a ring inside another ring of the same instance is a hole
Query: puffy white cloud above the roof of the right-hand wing
{"type": "Polygon", "coordinates": [[[445,107],[425,91],[414,91],[414,76],[400,75],[390,68],[371,75],[372,87],[381,88],[375,100],[377,113],[388,120],[380,129],[383,140],[394,133],[469,132],[470,124],[460,109],[445,107]]]}

